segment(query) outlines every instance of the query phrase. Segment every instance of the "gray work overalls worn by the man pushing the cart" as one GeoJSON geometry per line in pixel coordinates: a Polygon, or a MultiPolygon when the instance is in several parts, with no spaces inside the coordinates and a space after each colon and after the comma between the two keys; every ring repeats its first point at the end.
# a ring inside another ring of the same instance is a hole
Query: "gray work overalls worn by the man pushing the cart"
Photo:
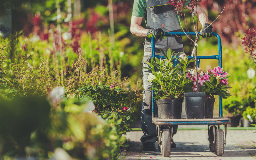
{"type": "MultiPolygon", "coordinates": [[[[147,2],[147,28],[162,28],[164,32],[180,32],[180,24],[177,20],[174,8],[167,4],[169,0],[146,0],[147,2]],[[161,27],[163,26],[164,27],[161,27]]],[[[170,48],[174,53],[183,53],[183,42],[181,37],[166,36],[165,39],[160,38],[155,41],[155,55],[163,55],[160,49],[163,49],[166,53],[170,48]]],[[[151,59],[151,41],[145,41],[144,43],[144,57],[142,60],[143,67],[148,67],[145,61],[151,59]]],[[[140,126],[144,133],[140,141],[156,142],[156,125],[152,123],[152,91],[150,90],[151,84],[148,82],[148,75],[151,71],[142,68],[142,80],[143,80],[143,102],[140,116],[140,126]]],[[[178,126],[173,126],[173,135],[177,132],[178,126]]]]}

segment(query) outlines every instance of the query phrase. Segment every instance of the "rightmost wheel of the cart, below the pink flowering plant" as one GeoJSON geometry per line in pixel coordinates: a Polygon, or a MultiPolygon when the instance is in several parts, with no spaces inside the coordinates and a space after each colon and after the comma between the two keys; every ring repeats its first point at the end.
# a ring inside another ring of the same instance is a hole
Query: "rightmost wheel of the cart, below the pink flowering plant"
{"type": "Polygon", "coordinates": [[[220,128],[215,130],[214,149],[215,149],[215,154],[217,156],[222,156],[224,154],[224,132],[220,128]]]}

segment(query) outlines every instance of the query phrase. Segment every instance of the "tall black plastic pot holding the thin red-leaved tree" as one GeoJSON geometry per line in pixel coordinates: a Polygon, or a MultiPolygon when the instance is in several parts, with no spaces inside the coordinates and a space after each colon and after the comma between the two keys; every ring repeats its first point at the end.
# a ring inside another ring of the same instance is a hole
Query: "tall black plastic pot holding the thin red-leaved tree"
{"type": "Polygon", "coordinates": [[[184,93],[185,111],[187,119],[204,118],[204,92],[187,92],[184,93]]]}

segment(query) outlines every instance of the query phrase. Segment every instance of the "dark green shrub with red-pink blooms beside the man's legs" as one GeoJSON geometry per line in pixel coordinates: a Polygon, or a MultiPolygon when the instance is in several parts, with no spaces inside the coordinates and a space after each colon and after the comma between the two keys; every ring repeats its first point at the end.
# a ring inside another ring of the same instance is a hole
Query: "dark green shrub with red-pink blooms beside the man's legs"
{"type": "Polygon", "coordinates": [[[130,105],[132,93],[124,89],[108,85],[91,85],[87,84],[76,91],[78,98],[88,97],[95,105],[95,112],[100,114],[104,119],[111,115],[116,115],[118,119],[122,119],[119,124],[120,132],[130,131],[132,122],[132,113],[134,106],[130,105]]]}

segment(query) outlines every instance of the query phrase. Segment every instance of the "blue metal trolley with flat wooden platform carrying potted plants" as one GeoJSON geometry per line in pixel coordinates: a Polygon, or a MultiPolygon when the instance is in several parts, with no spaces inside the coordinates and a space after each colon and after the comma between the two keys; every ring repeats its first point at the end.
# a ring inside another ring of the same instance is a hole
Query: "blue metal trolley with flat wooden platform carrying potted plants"
{"type": "MultiPolygon", "coordinates": [[[[172,35],[181,35],[185,36],[188,33],[184,32],[172,32],[165,33],[165,36],[172,35]]],[[[190,35],[196,36],[195,32],[189,32],[190,35]]],[[[221,49],[221,40],[220,36],[216,33],[212,33],[213,36],[218,38],[218,55],[212,56],[197,56],[197,66],[199,67],[200,59],[215,59],[219,60],[219,66],[222,67],[222,49],[221,49]]],[[[152,58],[162,58],[165,59],[164,56],[155,56],[155,41],[152,38],[152,58]]],[[[195,58],[194,56],[188,56],[189,59],[195,58]]],[[[177,65],[177,60],[174,60],[174,65],[177,65]]],[[[169,157],[171,152],[171,138],[172,138],[172,125],[197,125],[197,124],[208,124],[208,140],[209,140],[209,148],[210,151],[215,152],[217,156],[222,156],[224,154],[224,144],[226,144],[226,136],[227,136],[227,124],[230,124],[229,118],[224,118],[222,116],[222,98],[219,97],[219,117],[214,118],[204,118],[204,119],[161,119],[155,117],[155,101],[154,101],[154,90],[152,91],[152,122],[156,124],[156,133],[157,133],[157,141],[159,151],[162,152],[164,157],[169,157]],[[224,125],[225,133],[222,129],[220,129],[220,125],[224,125]],[[218,126],[218,128],[216,127],[218,126]]]]}

